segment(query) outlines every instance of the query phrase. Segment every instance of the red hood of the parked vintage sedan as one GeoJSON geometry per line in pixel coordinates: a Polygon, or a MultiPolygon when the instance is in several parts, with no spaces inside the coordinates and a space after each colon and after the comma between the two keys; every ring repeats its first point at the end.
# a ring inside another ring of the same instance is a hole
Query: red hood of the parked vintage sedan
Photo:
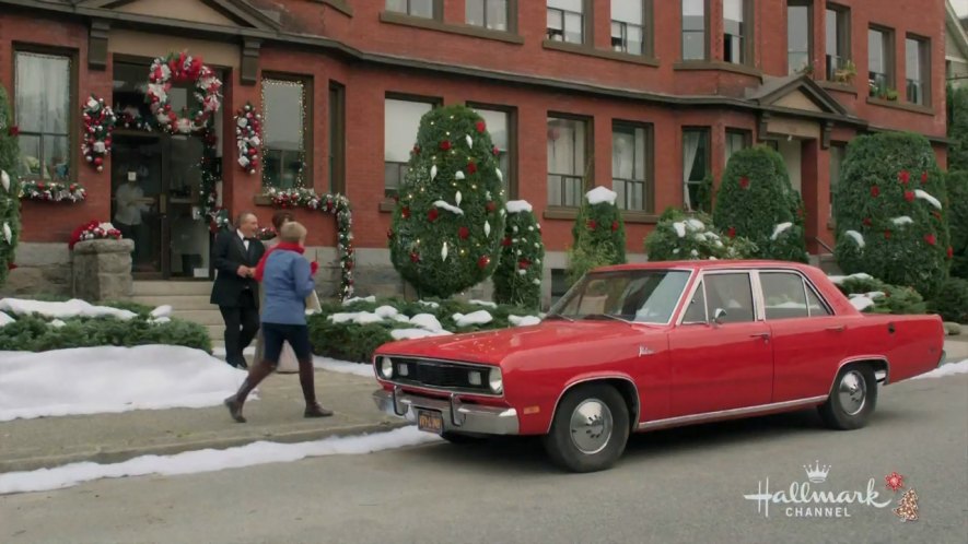
{"type": "Polygon", "coordinates": [[[567,347],[563,347],[569,345],[598,344],[621,339],[641,340],[643,333],[656,330],[658,328],[640,323],[556,320],[530,327],[390,342],[381,346],[376,353],[500,364],[520,352],[550,347],[567,352],[567,347]]]}

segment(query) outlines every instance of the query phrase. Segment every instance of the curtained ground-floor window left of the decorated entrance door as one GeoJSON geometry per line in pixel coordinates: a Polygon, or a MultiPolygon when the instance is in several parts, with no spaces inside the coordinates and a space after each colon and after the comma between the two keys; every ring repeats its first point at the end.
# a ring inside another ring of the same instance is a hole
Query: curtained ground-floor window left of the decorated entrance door
{"type": "Polygon", "coordinates": [[[14,123],[20,167],[28,178],[66,181],[71,172],[71,58],[14,54],[14,123]]]}

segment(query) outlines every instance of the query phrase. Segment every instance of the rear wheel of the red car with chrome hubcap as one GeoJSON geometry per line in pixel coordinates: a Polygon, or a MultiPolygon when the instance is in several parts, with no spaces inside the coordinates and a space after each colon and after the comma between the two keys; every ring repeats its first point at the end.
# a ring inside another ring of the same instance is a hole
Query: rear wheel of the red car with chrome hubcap
{"type": "Polygon", "coordinates": [[[840,370],[827,402],[819,407],[824,423],[838,430],[861,428],[877,404],[877,379],[868,365],[840,370]]]}

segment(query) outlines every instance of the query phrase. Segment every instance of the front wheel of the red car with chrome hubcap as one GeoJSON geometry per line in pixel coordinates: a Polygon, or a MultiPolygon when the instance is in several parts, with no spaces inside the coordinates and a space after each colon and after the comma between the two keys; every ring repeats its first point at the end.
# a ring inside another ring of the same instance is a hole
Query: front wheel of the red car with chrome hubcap
{"type": "Polygon", "coordinates": [[[629,439],[629,410],[610,386],[591,383],[569,391],[545,435],[548,456],[572,472],[611,468],[629,439]]]}

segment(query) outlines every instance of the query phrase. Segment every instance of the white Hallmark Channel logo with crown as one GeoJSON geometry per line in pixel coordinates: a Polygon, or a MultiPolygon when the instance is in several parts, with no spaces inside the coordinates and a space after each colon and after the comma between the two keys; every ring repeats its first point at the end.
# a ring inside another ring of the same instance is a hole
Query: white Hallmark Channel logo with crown
{"type": "Polygon", "coordinates": [[[887,508],[891,499],[878,500],[880,493],[874,489],[876,484],[872,477],[865,489],[826,489],[813,488],[812,484],[826,484],[830,474],[829,464],[803,465],[806,482],[791,482],[790,487],[779,490],[770,489],[770,478],[757,483],[755,494],[743,495],[747,500],[757,502],[757,513],[770,517],[770,505],[782,505],[780,508],[788,518],[850,518],[852,508],[887,508]]]}

